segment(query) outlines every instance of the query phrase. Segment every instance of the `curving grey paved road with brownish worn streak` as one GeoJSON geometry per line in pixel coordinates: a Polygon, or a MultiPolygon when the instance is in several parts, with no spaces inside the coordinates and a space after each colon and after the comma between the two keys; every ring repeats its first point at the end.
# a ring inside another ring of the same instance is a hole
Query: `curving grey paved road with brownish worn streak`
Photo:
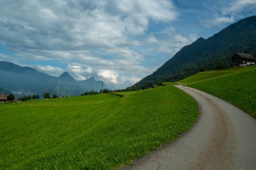
{"type": "Polygon", "coordinates": [[[197,101],[199,120],[176,142],[123,170],[256,169],[256,120],[218,97],[177,87],[197,101]]]}

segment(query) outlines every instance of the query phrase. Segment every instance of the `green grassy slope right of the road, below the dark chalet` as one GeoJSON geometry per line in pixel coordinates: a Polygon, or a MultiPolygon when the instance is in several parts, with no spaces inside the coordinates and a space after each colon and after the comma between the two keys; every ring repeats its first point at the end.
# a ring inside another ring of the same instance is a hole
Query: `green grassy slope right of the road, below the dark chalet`
{"type": "Polygon", "coordinates": [[[205,71],[179,81],[220,97],[256,118],[256,66],[205,71]]]}

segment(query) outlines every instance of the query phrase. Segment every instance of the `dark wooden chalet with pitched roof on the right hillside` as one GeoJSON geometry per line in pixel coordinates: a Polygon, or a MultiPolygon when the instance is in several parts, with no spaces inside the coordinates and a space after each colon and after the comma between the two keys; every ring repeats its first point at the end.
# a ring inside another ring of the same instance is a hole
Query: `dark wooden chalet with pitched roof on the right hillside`
{"type": "Polygon", "coordinates": [[[255,58],[251,54],[238,53],[231,58],[232,67],[241,67],[247,65],[255,65],[255,58]]]}

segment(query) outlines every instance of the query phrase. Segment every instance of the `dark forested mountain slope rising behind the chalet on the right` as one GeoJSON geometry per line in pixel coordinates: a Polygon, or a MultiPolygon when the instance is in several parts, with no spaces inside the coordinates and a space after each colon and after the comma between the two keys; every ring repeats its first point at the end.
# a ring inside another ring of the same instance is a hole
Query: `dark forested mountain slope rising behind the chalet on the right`
{"type": "Polygon", "coordinates": [[[256,16],[241,19],[206,40],[199,38],[184,46],[135,86],[144,88],[162,81],[179,81],[199,71],[227,69],[231,67],[231,58],[236,52],[256,55],[256,16]]]}

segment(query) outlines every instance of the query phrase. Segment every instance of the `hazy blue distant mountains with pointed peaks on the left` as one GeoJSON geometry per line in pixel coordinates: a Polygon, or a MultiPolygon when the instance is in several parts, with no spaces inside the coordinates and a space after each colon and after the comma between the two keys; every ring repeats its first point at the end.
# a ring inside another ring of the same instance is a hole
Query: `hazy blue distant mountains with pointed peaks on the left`
{"type": "Polygon", "coordinates": [[[103,81],[96,81],[94,77],[84,81],[76,81],[65,72],[59,77],[40,73],[31,67],[20,67],[11,62],[0,61],[0,92],[13,93],[15,97],[24,95],[43,95],[48,92],[58,96],[81,95],[90,90],[100,91],[103,81]]]}

